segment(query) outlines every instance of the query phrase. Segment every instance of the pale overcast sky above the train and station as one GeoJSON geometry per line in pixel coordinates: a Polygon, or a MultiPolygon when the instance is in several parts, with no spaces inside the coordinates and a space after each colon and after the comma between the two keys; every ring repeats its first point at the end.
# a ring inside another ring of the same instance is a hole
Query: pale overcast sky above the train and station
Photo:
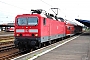
{"type": "Polygon", "coordinates": [[[13,22],[17,14],[30,13],[31,9],[59,8],[59,16],[74,20],[90,20],[90,0],[0,0],[0,24],[13,22]]]}

